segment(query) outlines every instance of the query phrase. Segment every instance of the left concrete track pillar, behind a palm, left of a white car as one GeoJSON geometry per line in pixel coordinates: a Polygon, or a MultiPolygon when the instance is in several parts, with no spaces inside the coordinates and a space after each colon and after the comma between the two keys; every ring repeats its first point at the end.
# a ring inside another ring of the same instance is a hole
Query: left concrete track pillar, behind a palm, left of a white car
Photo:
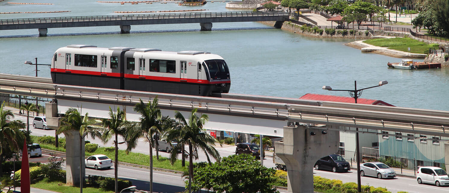
{"type": "Polygon", "coordinates": [[[86,165],[84,164],[84,138],[81,142],[81,158],[79,154],[79,137],[78,131],[64,132],[66,136],[66,184],[79,187],[79,160],[81,162],[81,172],[84,182],[84,176],[86,176],[86,165]]]}

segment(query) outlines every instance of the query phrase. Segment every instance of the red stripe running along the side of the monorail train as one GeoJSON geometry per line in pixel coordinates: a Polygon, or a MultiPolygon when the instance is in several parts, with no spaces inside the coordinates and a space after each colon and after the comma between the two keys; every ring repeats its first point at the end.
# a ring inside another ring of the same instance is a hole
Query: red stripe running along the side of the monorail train
{"type": "MultiPolygon", "coordinates": [[[[108,77],[121,77],[120,73],[101,73],[87,70],[66,70],[66,69],[51,69],[51,72],[57,73],[74,73],[74,74],[87,74],[93,76],[108,76],[108,77]]],[[[231,83],[231,81],[207,81],[207,80],[197,80],[197,79],[181,79],[179,77],[157,77],[157,76],[143,76],[143,75],[135,75],[135,74],[124,74],[125,78],[132,79],[145,79],[145,80],[157,80],[157,81],[173,81],[173,82],[189,82],[189,83],[201,83],[201,84],[222,84],[222,83],[231,83]]]]}

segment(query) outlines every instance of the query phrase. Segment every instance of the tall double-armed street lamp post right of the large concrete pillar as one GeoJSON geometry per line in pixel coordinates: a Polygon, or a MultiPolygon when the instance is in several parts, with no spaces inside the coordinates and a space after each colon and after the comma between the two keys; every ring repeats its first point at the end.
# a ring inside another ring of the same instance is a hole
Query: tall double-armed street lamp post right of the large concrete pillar
{"type": "MultiPolygon", "coordinates": [[[[382,85],[386,85],[388,84],[387,81],[380,81],[379,85],[377,86],[371,86],[371,87],[367,87],[367,88],[363,88],[363,89],[358,89],[357,90],[357,81],[354,81],[354,90],[335,90],[335,91],[348,91],[349,95],[354,98],[354,102],[357,103],[357,99],[360,97],[360,95],[362,94],[363,90],[365,89],[370,89],[370,88],[374,88],[374,87],[378,87],[378,86],[382,86],[382,85]]],[[[330,86],[323,86],[322,87],[323,90],[333,90],[330,86]]],[[[358,132],[359,128],[356,128],[356,153],[357,153],[357,190],[359,193],[361,193],[362,189],[361,189],[361,181],[360,181],[360,147],[359,147],[359,132],[358,132]]]]}

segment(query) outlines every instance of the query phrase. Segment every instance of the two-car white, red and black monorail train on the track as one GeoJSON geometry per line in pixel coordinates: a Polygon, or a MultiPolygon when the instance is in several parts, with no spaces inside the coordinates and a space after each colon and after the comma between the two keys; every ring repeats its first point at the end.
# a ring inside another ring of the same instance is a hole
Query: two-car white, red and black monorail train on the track
{"type": "Polygon", "coordinates": [[[55,52],[51,76],[56,84],[200,96],[231,86],[225,60],[204,51],[70,45],[55,52]]]}

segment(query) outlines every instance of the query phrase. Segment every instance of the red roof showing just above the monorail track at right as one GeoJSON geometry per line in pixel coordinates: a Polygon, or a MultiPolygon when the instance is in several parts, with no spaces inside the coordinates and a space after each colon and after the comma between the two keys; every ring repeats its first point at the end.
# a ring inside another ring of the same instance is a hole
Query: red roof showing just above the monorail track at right
{"type": "MultiPolygon", "coordinates": [[[[305,100],[317,100],[317,101],[331,101],[331,102],[341,102],[341,103],[355,103],[354,98],[352,97],[342,97],[342,96],[334,96],[334,95],[326,95],[326,94],[304,94],[299,99],[305,100]]],[[[357,103],[359,104],[372,104],[372,105],[384,105],[394,107],[394,105],[385,103],[381,100],[374,99],[362,99],[358,98],[357,103]]]]}

